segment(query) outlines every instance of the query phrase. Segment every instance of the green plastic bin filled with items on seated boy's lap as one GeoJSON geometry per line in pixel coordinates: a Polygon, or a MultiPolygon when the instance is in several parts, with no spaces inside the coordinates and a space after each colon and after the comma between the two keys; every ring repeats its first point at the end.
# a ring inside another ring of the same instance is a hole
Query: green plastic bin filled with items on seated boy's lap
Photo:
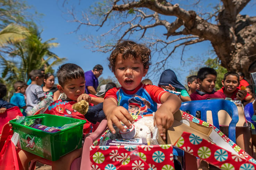
{"type": "Polygon", "coordinates": [[[50,133],[18,124],[16,119],[10,120],[14,132],[19,134],[17,146],[20,149],[48,160],[56,161],[60,156],[82,147],[83,124],[86,123],[86,120],[50,114],[40,114],[26,118],[41,118],[41,124],[49,127],[61,127],[71,123],[78,124],[55,133],[50,133]]]}

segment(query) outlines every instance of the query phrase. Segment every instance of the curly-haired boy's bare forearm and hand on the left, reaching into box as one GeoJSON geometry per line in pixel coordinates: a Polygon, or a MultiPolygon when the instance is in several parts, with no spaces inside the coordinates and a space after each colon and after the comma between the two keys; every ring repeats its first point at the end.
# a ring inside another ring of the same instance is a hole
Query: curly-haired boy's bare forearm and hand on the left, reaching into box
{"type": "Polygon", "coordinates": [[[108,120],[108,128],[112,133],[116,133],[113,123],[119,128],[121,131],[125,132],[126,129],[119,122],[121,120],[128,128],[131,128],[131,123],[134,123],[134,120],[130,113],[122,106],[117,106],[117,102],[114,98],[107,98],[103,102],[103,111],[108,120]],[[131,122],[129,122],[129,121],[131,122]]]}

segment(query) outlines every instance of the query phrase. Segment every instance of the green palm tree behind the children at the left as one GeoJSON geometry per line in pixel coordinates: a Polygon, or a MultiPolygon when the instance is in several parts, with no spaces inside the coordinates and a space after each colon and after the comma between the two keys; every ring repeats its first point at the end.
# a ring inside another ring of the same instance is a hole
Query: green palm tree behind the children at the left
{"type": "Polygon", "coordinates": [[[0,56],[2,78],[8,84],[9,91],[13,90],[10,85],[17,80],[26,82],[31,70],[44,69],[46,73],[52,73],[53,66],[66,60],[50,51],[50,48],[58,46],[58,43],[51,42],[54,40],[55,38],[51,38],[42,42],[40,34],[33,29],[30,36],[14,44],[14,50],[9,52],[8,57],[0,56]]]}

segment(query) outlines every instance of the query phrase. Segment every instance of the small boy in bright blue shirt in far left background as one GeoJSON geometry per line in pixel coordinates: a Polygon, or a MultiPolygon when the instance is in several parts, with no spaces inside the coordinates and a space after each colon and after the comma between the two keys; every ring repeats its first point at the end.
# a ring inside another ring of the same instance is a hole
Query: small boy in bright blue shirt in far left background
{"type": "Polygon", "coordinates": [[[18,106],[20,111],[22,111],[22,114],[26,116],[25,109],[27,106],[24,95],[26,92],[27,84],[24,81],[16,81],[13,87],[16,92],[13,93],[13,96],[10,99],[10,103],[18,106]]]}

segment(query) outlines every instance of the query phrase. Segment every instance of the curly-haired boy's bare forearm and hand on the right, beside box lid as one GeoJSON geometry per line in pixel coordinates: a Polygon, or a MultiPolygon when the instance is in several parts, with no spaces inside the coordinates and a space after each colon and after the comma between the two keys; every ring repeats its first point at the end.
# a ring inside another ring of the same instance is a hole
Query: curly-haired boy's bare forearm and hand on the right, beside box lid
{"type": "Polygon", "coordinates": [[[175,94],[164,93],[160,100],[162,105],[155,113],[154,124],[157,125],[160,136],[165,140],[167,129],[172,126],[174,121],[173,114],[179,110],[181,106],[181,99],[175,94]]]}

